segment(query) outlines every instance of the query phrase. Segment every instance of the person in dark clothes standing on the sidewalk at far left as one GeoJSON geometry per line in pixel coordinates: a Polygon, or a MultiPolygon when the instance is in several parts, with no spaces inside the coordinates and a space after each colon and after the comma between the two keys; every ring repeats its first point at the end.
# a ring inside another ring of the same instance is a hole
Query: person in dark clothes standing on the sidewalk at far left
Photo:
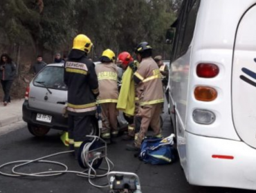
{"type": "Polygon", "coordinates": [[[10,88],[16,74],[16,65],[8,54],[2,54],[0,59],[0,79],[3,88],[3,105],[10,103],[10,88]]]}

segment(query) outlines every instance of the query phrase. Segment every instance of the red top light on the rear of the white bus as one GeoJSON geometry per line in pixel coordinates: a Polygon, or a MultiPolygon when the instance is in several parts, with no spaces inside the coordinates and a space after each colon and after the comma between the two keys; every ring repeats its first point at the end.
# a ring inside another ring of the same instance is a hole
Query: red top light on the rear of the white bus
{"type": "Polygon", "coordinates": [[[199,63],[196,74],[201,78],[214,78],[219,74],[219,67],[213,63],[199,63]]]}

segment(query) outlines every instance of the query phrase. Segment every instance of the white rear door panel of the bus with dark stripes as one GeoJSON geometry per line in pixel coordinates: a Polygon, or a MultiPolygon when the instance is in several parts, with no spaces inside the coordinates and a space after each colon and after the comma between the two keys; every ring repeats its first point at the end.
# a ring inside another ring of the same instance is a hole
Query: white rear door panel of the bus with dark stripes
{"type": "Polygon", "coordinates": [[[239,23],[232,76],[232,113],[241,139],[256,148],[256,6],[239,23]]]}

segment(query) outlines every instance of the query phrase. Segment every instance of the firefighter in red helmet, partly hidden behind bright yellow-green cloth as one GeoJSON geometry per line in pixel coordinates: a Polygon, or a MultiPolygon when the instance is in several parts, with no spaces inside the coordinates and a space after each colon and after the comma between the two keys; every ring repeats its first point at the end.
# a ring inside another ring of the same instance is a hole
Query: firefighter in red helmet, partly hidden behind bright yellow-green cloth
{"type": "Polygon", "coordinates": [[[122,136],[125,141],[134,139],[135,136],[135,114],[138,112],[138,103],[136,103],[135,85],[133,80],[133,70],[129,67],[131,63],[138,63],[134,61],[129,52],[121,52],[118,55],[118,64],[125,70],[122,77],[122,87],[118,97],[118,109],[125,113],[126,119],[129,123],[127,134],[122,136]],[[133,98],[133,99],[132,99],[133,98]]]}

